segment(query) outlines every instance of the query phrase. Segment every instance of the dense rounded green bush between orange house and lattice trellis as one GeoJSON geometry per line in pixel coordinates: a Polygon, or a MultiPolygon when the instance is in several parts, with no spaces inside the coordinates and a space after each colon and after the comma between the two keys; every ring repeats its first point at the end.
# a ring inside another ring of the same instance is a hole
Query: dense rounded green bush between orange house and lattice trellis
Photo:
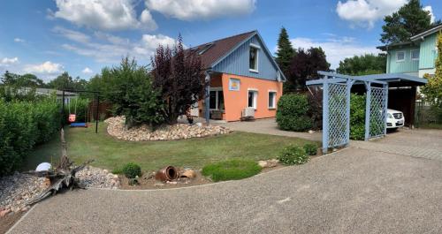
{"type": "Polygon", "coordinates": [[[286,131],[304,132],[313,126],[307,116],[309,102],[304,94],[285,94],[278,101],[278,127],[286,131]]]}

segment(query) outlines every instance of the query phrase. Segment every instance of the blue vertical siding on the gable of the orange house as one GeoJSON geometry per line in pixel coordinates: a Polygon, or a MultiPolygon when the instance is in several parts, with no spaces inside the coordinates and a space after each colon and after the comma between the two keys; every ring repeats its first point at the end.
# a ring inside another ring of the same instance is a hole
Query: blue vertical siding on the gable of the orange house
{"type": "Polygon", "coordinates": [[[265,52],[263,42],[255,35],[248,42],[243,43],[238,49],[235,49],[228,57],[225,57],[219,64],[213,67],[215,72],[223,72],[240,76],[254,77],[259,79],[276,80],[278,70],[271,63],[271,55],[265,52]],[[250,72],[248,69],[248,53],[250,43],[258,45],[258,72],[250,72]]]}

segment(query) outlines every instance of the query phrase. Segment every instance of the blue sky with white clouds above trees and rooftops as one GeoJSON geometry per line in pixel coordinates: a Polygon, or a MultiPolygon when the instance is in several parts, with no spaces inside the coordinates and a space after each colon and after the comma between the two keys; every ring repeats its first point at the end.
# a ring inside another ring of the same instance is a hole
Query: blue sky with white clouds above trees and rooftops
{"type": "MultiPolygon", "coordinates": [[[[331,63],[378,53],[385,15],[407,0],[10,0],[0,3],[0,73],[62,72],[90,79],[122,57],[149,65],[158,44],[187,47],[258,30],[277,49],[281,26],[294,48],[321,46],[331,63]]],[[[442,1],[421,0],[433,19],[442,1]]]]}

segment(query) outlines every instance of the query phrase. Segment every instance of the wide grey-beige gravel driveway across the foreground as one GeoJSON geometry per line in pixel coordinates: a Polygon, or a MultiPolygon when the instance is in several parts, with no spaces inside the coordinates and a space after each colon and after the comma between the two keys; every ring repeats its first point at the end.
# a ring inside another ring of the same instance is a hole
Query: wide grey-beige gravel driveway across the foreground
{"type": "Polygon", "coordinates": [[[240,181],[66,192],[10,233],[441,233],[441,200],[442,161],[349,147],[240,181]]]}

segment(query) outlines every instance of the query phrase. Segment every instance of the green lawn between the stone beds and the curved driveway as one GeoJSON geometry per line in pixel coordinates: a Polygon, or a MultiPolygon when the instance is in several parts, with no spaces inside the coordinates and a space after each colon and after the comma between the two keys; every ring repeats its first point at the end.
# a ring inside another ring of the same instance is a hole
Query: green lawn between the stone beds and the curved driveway
{"type": "MultiPolygon", "coordinates": [[[[167,165],[202,168],[210,162],[231,158],[263,160],[277,157],[283,147],[303,145],[309,140],[278,137],[248,132],[191,140],[129,142],[116,140],[100,123],[94,128],[66,128],[68,155],[76,163],[94,159],[92,165],[117,169],[127,162],[136,162],[142,170],[158,170],[167,165]]],[[[61,147],[59,137],[36,147],[25,162],[24,170],[35,169],[40,162],[57,162],[61,147]]]]}

